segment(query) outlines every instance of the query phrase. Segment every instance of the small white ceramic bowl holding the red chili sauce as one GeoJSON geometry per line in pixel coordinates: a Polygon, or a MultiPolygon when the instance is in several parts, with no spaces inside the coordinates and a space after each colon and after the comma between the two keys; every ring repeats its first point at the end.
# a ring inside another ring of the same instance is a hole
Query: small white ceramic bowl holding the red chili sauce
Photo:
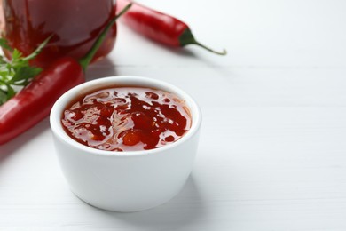
{"type": "Polygon", "coordinates": [[[100,209],[142,211],[169,201],[184,186],[197,151],[201,110],[171,84],[140,76],[112,76],[80,84],[62,95],[51,109],[50,123],[61,169],[75,195],[100,209]],[[177,94],[191,110],[191,129],[172,144],[133,152],[98,150],[71,139],[60,122],[67,104],[84,92],[114,84],[177,94]]]}

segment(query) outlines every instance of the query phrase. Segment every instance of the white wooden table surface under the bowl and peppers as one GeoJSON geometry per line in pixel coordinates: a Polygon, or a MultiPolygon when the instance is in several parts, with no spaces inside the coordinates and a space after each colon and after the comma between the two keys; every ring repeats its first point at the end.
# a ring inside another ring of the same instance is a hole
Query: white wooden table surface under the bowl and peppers
{"type": "Polygon", "coordinates": [[[141,0],[202,43],[167,47],[119,24],[88,79],[139,75],[189,92],[201,143],[182,192],[101,211],[67,187],[48,119],[0,147],[0,230],[346,230],[346,2],[141,0]]]}

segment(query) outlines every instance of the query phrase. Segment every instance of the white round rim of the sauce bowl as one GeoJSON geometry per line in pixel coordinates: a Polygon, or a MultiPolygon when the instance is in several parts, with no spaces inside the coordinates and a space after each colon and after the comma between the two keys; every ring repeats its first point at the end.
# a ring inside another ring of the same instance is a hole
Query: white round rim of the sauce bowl
{"type": "MultiPolygon", "coordinates": [[[[165,152],[166,150],[169,150],[184,144],[188,139],[192,139],[193,136],[201,128],[201,108],[199,107],[198,103],[193,99],[192,96],[190,96],[188,93],[186,93],[185,91],[183,91],[182,89],[180,89],[174,84],[169,84],[168,82],[157,80],[157,79],[146,77],[146,76],[105,76],[105,77],[100,77],[97,79],[87,81],[83,84],[78,84],[75,87],[68,90],[67,92],[65,92],[64,94],[62,94],[59,97],[59,99],[56,100],[53,107],[51,108],[50,125],[51,125],[51,131],[53,135],[56,136],[56,138],[60,139],[64,143],[67,143],[67,145],[69,146],[79,149],[80,151],[83,151],[92,155],[99,155],[99,156],[106,156],[106,157],[114,156],[117,158],[122,158],[122,157],[130,158],[130,157],[160,154],[162,152],[165,152]],[[190,109],[192,113],[191,128],[188,131],[186,131],[184,136],[182,136],[180,139],[177,139],[177,141],[173,143],[170,143],[163,147],[157,147],[157,148],[148,149],[148,150],[137,150],[137,151],[116,152],[116,151],[109,151],[109,150],[100,150],[97,148],[83,145],[75,141],[75,139],[72,139],[71,137],[69,137],[67,135],[67,132],[64,131],[62,124],[60,123],[62,111],[64,108],[66,108],[67,103],[71,102],[71,100],[76,98],[77,95],[83,94],[82,92],[90,92],[93,89],[96,90],[99,87],[106,86],[106,84],[110,84],[110,83],[112,84],[120,83],[120,84],[129,85],[129,86],[133,84],[134,86],[153,87],[159,90],[164,90],[164,91],[173,92],[177,94],[179,98],[182,98],[185,100],[187,107],[190,109]]],[[[81,153],[81,152],[77,152],[77,153],[81,153]]]]}

